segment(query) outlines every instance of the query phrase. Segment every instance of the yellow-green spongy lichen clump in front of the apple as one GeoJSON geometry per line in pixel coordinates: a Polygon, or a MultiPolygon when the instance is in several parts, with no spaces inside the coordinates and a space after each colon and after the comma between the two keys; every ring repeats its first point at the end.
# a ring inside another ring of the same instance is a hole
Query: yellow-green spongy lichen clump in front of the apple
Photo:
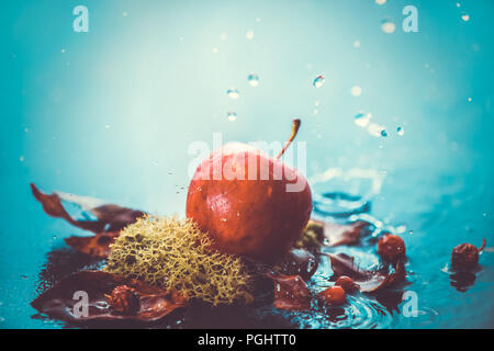
{"type": "Polygon", "coordinates": [[[139,218],[112,244],[104,270],[213,305],[254,299],[247,265],[216,251],[190,219],[139,218]]]}

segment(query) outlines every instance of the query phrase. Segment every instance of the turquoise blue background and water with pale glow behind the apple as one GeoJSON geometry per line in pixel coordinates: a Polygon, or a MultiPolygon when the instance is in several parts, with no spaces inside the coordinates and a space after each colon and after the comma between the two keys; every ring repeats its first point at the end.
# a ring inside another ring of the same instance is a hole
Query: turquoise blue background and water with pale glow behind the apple
{"type": "Polygon", "coordinates": [[[46,253],[83,235],[43,213],[31,181],[183,215],[191,141],[211,144],[213,132],[225,141],[284,140],[294,116],[303,120],[297,138],[307,141],[310,178],[328,168],[385,174],[372,214],[413,230],[405,234],[416,273],[409,288],[437,315],[396,316],[394,327],[493,328],[494,253],[482,254],[483,271],[464,294],[441,272],[456,245],[484,237],[494,245],[494,3],[2,3],[0,328],[57,327],[32,319],[29,302],[46,253]],[[89,33],[72,31],[78,4],[89,9],[89,33]],[[418,9],[418,33],[401,29],[406,4],[418,9]],[[396,23],[393,34],[382,32],[384,19],[396,23]],[[257,88],[247,82],[251,72],[257,88]],[[326,82],[316,89],[321,73],[326,82]],[[226,97],[232,86],[238,100],[226,97]],[[352,97],[352,86],[363,94],[352,97]],[[355,125],[359,110],[389,136],[355,125]],[[235,122],[227,111],[236,111],[235,122]]]}

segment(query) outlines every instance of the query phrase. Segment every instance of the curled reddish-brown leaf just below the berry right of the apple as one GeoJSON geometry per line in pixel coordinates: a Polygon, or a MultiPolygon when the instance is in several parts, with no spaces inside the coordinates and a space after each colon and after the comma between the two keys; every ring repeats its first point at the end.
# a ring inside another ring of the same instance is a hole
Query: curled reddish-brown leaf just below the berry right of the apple
{"type": "Polygon", "coordinates": [[[373,293],[394,283],[404,281],[406,270],[403,262],[396,263],[394,273],[383,271],[368,271],[359,268],[352,257],[345,253],[327,254],[332,261],[333,272],[336,276],[346,275],[360,286],[362,293],[373,293]]]}

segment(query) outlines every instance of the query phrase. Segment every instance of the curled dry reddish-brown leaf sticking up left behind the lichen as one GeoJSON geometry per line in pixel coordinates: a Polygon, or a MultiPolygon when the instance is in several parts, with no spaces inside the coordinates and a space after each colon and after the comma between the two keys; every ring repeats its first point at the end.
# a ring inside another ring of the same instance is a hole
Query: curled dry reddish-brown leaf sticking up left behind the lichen
{"type": "Polygon", "coordinates": [[[101,204],[92,197],[69,195],[60,192],[45,194],[36,185],[31,184],[34,197],[43,205],[43,210],[52,217],[64,218],[72,226],[90,230],[92,237],[69,237],[65,241],[79,252],[96,258],[106,258],[110,253],[110,244],[119,236],[120,230],[144,216],[144,212],[112,204],[101,204]],[[64,206],[63,202],[76,205],[83,217],[94,219],[76,219],[64,206]]]}

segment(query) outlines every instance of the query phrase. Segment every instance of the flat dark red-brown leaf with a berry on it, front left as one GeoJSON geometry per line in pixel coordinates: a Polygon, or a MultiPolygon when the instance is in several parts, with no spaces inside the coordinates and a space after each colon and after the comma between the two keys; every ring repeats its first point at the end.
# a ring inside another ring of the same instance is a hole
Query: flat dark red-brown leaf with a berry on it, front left
{"type": "Polygon", "coordinates": [[[56,319],[85,322],[105,320],[128,320],[151,322],[169,315],[177,308],[187,307],[188,301],[179,293],[168,293],[135,279],[102,271],[81,271],[61,279],[50,290],[40,295],[31,305],[42,314],[56,319]],[[135,315],[113,310],[109,295],[120,285],[134,288],[141,297],[141,307],[135,315]],[[80,297],[76,292],[88,295],[88,315],[80,315],[80,297]],[[76,298],[75,298],[76,297],[76,298]]]}

